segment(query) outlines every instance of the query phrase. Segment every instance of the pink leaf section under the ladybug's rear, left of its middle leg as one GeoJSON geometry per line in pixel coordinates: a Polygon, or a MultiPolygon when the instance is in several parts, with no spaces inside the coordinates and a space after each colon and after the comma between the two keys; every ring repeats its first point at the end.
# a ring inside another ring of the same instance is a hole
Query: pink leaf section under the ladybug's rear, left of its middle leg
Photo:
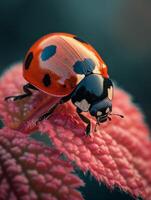
{"type": "Polygon", "coordinates": [[[32,97],[21,101],[4,101],[4,98],[23,93],[27,82],[22,76],[22,65],[16,64],[6,71],[0,79],[0,116],[10,128],[30,132],[36,129],[38,117],[48,110],[59,98],[50,97],[39,91],[33,91],[32,97]]]}

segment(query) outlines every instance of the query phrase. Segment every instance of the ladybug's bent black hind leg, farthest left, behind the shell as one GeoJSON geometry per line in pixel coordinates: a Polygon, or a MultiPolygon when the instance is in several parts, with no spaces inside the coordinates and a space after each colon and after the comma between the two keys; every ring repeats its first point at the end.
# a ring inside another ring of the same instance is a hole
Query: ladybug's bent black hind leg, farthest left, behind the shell
{"type": "Polygon", "coordinates": [[[21,94],[21,95],[18,95],[18,96],[8,96],[8,97],[5,97],[5,101],[7,101],[8,99],[13,99],[14,101],[16,100],[20,100],[20,99],[23,99],[25,97],[29,97],[32,95],[32,92],[30,91],[30,89],[32,90],[38,90],[36,87],[34,87],[33,85],[31,85],[30,83],[27,83],[26,85],[23,86],[23,91],[25,92],[25,94],[21,94]]]}

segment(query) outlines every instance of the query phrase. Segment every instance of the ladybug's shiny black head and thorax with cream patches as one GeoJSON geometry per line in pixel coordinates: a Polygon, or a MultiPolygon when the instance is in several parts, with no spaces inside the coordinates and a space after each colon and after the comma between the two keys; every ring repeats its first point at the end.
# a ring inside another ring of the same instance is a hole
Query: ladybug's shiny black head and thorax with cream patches
{"type": "Polygon", "coordinates": [[[72,102],[93,116],[106,115],[112,109],[113,85],[99,74],[86,76],[72,94],[72,102]]]}

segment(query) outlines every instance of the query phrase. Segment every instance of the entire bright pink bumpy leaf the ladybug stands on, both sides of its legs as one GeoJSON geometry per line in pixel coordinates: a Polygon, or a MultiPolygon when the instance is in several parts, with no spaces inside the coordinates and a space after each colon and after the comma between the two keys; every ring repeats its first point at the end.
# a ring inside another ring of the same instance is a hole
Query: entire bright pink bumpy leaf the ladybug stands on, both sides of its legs
{"type": "MultiPolygon", "coordinates": [[[[61,106],[49,120],[35,127],[35,120],[57,98],[35,92],[32,98],[21,102],[4,102],[4,96],[21,92],[23,82],[20,66],[10,69],[0,81],[0,114],[5,125],[26,134],[39,128],[49,134],[60,152],[84,172],[90,170],[98,181],[110,188],[118,186],[133,196],[151,199],[149,130],[141,112],[124,91],[115,89],[113,112],[125,118],[114,116],[111,122],[101,124],[97,132],[92,131],[91,137],[86,137],[85,125],[71,103],[61,106]]],[[[95,120],[90,118],[94,128],[95,120]]]]}

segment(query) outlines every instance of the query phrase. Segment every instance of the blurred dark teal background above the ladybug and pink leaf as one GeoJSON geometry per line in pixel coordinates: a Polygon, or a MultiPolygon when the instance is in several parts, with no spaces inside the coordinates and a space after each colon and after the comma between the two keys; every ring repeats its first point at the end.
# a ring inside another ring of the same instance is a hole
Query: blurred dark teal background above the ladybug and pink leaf
{"type": "Polygon", "coordinates": [[[41,36],[76,34],[100,53],[151,125],[150,0],[1,0],[0,13],[1,72],[41,36]]]}

